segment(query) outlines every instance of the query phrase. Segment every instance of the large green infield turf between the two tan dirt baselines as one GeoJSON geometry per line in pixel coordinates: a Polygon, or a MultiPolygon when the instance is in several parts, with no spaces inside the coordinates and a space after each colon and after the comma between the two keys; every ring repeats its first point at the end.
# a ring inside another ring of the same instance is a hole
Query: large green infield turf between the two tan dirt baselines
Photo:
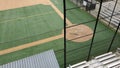
{"type": "Polygon", "coordinates": [[[58,35],[63,29],[62,19],[50,6],[11,9],[0,16],[0,50],[58,35]]]}

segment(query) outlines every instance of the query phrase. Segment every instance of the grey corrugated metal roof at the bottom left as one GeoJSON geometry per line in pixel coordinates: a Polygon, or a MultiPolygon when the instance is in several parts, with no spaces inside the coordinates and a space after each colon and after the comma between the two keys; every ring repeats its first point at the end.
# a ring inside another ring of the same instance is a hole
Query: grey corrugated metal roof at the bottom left
{"type": "Polygon", "coordinates": [[[1,68],[60,68],[53,50],[33,55],[15,62],[2,65],[1,68]]]}

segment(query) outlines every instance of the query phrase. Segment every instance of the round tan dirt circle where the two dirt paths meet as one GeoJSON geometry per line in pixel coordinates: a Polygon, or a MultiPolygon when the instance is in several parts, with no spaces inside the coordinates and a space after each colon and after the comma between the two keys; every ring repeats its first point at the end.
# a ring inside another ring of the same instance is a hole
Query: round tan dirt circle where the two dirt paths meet
{"type": "Polygon", "coordinates": [[[92,38],[93,30],[86,25],[77,25],[66,29],[66,39],[73,42],[85,42],[92,38]]]}

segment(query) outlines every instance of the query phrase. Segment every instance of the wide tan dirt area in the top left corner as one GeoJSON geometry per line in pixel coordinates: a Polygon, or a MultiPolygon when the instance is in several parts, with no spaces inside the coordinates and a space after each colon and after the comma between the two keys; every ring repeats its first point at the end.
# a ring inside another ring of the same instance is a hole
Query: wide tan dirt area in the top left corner
{"type": "Polygon", "coordinates": [[[8,10],[36,4],[49,5],[49,0],[0,0],[0,10],[8,10]]]}

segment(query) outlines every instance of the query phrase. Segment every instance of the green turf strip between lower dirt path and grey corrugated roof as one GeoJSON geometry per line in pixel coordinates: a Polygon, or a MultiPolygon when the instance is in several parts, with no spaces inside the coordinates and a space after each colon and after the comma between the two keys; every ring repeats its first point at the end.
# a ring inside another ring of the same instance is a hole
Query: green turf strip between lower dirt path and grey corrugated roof
{"type": "Polygon", "coordinates": [[[63,38],[0,56],[0,65],[53,49],[61,68],[63,67],[63,38]]]}

